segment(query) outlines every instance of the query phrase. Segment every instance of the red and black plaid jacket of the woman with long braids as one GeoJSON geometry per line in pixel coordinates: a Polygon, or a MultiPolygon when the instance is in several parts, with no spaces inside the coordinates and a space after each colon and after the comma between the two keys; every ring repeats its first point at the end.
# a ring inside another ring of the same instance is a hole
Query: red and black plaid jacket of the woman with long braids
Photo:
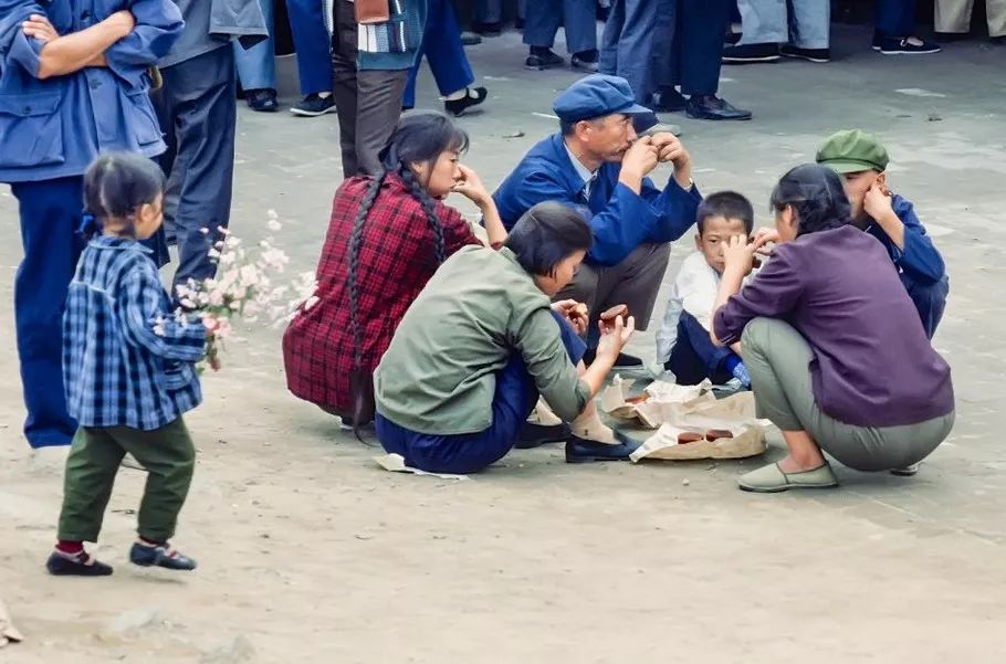
{"type": "MultiPolygon", "coordinates": [[[[283,360],[290,391],[322,408],[352,412],[349,371],[349,234],[370,178],[343,182],[332,203],[328,236],[318,262],[318,302],[301,312],[283,335],[283,360]]],[[[479,244],[453,208],[436,203],[447,255],[479,244]]],[[[397,176],[385,179],[363,231],[357,268],[358,322],[363,326],[363,369],[373,371],[391,336],[438,267],[433,232],[419,201],[397,176]]]]}

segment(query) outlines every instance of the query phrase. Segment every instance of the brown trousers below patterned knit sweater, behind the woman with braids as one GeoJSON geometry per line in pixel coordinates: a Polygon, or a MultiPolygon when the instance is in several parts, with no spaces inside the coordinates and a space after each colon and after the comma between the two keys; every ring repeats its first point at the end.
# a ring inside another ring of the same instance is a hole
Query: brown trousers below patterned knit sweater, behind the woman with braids
{"type": "Polygon", "coordinates": [[[378,154],[401,117],[402,94],[408,80],[409,70],[357,72],[356,160],[360,172],[376,175],[380,170],[378,154]]]}

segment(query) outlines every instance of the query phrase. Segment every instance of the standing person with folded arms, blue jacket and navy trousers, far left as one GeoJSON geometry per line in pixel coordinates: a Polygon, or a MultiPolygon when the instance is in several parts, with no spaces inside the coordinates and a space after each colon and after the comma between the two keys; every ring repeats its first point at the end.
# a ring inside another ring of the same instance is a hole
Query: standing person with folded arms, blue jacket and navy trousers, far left
{"type": "Polygon", "coordinates": [[[14,280],[32,447],[66,445],[62,316],[83,240],[83,173],[98,152],[165,149],[148,67],[184,28],[169,0],[0,0],[0,182],[18,199],[14,280]]]}

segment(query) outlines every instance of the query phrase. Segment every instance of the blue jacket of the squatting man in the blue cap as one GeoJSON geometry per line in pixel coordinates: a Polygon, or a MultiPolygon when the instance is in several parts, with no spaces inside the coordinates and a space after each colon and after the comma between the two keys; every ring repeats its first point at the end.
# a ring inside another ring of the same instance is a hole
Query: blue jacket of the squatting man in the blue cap
{"type": "Polygon", "coordinates": [[[616,265],[639,245],[678,240],[695,223],[702,196],[670,178],[663,191],[643,178],[640,193],[618,181],[621,164],[605,164],[584,196],[560,134],[531,148],[493,194],[507,230],[524,212],[543,201],[557,201],[580,212],[594,231],[587,261],[616,265]]]}

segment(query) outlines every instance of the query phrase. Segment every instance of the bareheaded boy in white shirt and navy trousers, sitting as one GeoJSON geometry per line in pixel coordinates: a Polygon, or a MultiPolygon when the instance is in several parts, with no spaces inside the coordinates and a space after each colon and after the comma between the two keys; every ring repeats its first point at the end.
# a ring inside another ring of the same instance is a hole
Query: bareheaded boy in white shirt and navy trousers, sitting
{"type": "Polygon", "coordinates": [[[688,256],[674,280],[663,324],[657,333],[657,360],[674,373],[679,384],[699,384],[709,378],[722,384],[736,378],[751,387],[747,367],[730,348],[709,336],[710,316],[723,273],[722,243],[751,235],[754,209],[744,196],[721,191],[705,198],[695,214],[698,252],[688,256]]]}

